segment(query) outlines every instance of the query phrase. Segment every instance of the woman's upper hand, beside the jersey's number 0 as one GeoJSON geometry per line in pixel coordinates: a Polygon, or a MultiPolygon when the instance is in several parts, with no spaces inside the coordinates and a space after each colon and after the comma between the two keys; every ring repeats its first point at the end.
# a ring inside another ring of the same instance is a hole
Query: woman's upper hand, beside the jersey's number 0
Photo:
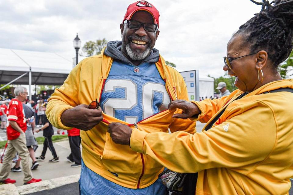
{"type": "Polygon", "coordinates": [[[194,115],[198,115],[201,113],[197,105],[194,103],[188,102],[183,99],[176,99],[174,101],[171,101],[168,105],[169,110],[173,110],[175,108],[179,108],[182,110],[181,114],[174,114],[172,118],[191,118],[194,115]]]}

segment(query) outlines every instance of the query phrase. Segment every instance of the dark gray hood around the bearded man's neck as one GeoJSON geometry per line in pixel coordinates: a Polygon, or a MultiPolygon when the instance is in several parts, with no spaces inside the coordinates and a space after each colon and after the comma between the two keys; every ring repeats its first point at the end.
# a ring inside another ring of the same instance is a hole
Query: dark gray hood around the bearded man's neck
{"type": "MultiPolygon", "coordinates": [[[[110,41],[107,43],[107,47],[104,51],[104,54],[114,58],[115,60],[120,60],[126,64],[134,65],[130,60],[128,60],[121,52],[122,41],[110,41]]],[[[159,50],[153,48],[150,52],[150,56],[144,59],[142,63],[155,63],[159,61],[159,50]]]]}

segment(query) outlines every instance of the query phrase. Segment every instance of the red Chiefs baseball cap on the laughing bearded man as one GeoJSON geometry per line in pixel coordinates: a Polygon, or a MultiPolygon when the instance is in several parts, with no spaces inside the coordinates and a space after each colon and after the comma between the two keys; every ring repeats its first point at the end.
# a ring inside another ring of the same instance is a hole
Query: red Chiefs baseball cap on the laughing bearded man
{"type": "Polygon", "coordinates": [[[127,11],[125,13],[124,19],[122,21],[122,23],[125,20],[130,20],[130,18],[132,17],[132,15],[139,11],[139,10],[144,10],[149,12],[150,14],[152,14],[153,18],[154,18],[154,23],[158,25],[159,28],[159,16],[160,13],[159,11],[154,7],[153,4],[147,2],[147,1],[137,1],[135,3],[132,3],[128,6],[127,11]]]}

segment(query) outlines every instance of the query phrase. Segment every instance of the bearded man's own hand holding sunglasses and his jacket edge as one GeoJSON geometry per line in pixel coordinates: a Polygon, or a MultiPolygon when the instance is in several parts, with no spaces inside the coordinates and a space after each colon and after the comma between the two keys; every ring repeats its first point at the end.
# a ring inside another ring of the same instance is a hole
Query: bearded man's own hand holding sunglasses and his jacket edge
{"type": "Polygon", "coordinates": [[[74,108],[65,110],[61,115],[61,121],[68,127],[75,127],[84,131],[92,129],[103,120],[102,109],[88,109],[88,105],[80,104],[74,108]]]}

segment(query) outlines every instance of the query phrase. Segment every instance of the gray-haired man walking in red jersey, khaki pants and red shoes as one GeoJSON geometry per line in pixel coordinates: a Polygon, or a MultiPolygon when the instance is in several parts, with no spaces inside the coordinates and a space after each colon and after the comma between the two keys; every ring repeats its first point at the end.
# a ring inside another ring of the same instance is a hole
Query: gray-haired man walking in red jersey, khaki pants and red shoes
{"type": "Polygon", "coordinates": [[[29,155],[27,150],[25,130],[27,129],[26,118],[24,117],[24,109],[22,101],[27,99],[27,89],[18,86],[14,89],[15,98],[13,98],[8,105],[8,122],[7,126],[7,148],[0,172],[0,182],[15,183],[16,180],[7,178],[10,173],[12,159],[17,152],[22,159],[21,164],[24,171],[24,184],[42,181],[42,179],[34,179],[32,177],[29,166],[29,155]]]}

